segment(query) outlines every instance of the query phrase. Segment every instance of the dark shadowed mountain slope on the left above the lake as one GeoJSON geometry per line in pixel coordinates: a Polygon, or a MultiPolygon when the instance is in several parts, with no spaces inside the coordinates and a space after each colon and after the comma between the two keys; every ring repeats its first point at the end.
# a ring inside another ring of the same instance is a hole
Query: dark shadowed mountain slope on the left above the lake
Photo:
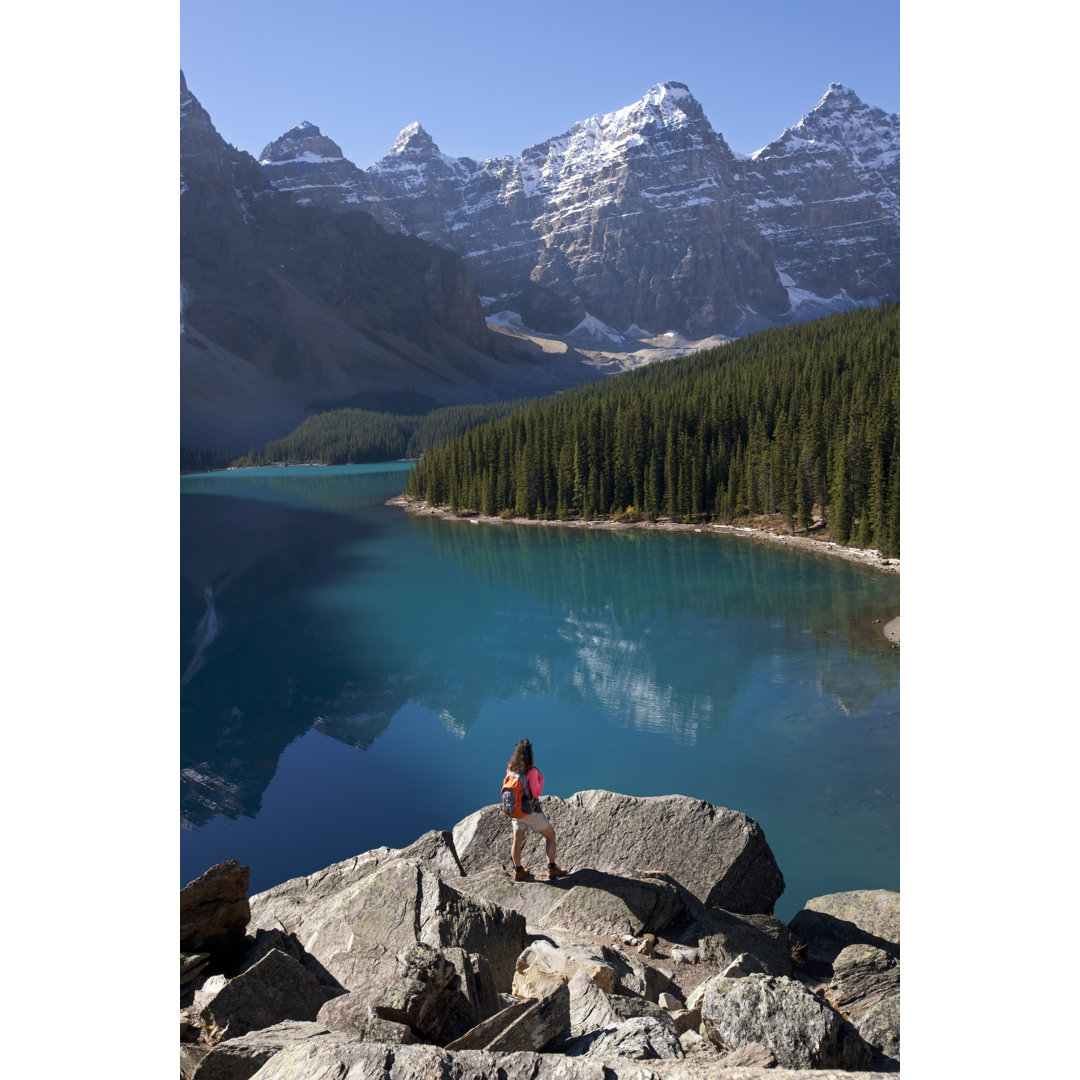
{"type": "MultiPolygon", "coordinates": [[[[283,161],[349,174],[311,125],[280,141],[283,161]]],[[[240,454],[318,403],[423,413],[597,377],[573,350],[492,333],[448,248],[294,194],[220,137],[181,72],[181,446],[240,454]]]]}

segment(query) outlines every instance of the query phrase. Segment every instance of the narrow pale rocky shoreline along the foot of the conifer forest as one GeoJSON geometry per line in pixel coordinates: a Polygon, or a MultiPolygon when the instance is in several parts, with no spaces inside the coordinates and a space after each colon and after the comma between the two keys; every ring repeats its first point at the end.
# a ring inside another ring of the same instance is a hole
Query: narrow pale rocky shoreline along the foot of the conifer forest
{"type": "MultiPolygon", "coordinates": [[[[785,548],[795,548],[800,551],[811,552],[814,555],[842,558],[849,563],[867,566],[880,573],[900,575],[900,559],[886,558],[879,551],[873,548],[846,548],[842,544],[834,543],[832,540],[818,540],[809,536],[792,536],[789,532],[772,532],[769,529],[752,528],[746,525],[718,525],[712,522],[702,525],[687,525],[683,522],[672,522],[663,517],[656,522],[618,522],[612,518],[594,518],[586,522],[582,518],[541,521],[532,517],[490,517],[473,512],[455,514],[449,507],[429,507],[422,499],[413,499],[406,495],[395,495],[393,498],[388,499],[386,504],[388,507],[400,507],[402,510],[420,517],[447,517],[454,521],[475,522],[481,525],[549,525],[558,528],[600,529],[612,532],[625,529],[649,529],[660,532],[727,534],[729,536],[742,537],[745,540],[756,540],[761,543],[775,543],[785,548]]],[[[889,642],[899,648],[900,616],[891,619],[882,629],[889,642]]]]}

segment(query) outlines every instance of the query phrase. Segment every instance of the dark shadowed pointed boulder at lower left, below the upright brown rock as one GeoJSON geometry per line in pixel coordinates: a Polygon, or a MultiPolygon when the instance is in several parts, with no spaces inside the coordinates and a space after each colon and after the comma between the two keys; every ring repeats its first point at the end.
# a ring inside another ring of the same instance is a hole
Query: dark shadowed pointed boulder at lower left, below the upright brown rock
{"type": "Polygon", "coordinates": [[[195,1016],[205,1042],[234,1039],[285,1020],[313,1021],[339,990],[324,986],[301,963],[272,949],[247,971],[230,978],[195,1016]]]}

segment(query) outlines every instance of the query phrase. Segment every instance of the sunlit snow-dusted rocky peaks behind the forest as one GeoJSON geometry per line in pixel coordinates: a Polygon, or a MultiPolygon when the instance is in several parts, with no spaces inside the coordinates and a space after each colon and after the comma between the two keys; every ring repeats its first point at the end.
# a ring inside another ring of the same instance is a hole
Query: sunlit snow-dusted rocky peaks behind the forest
{"type": "Polygon", "coordinates": [[[517,157],[450,158],[413,123],[361,170],[306,123],[260,163],[303,205],[456,251],[488,315],[539,332],[701,339],[899,299],[900,120],[837,83],[750,157],[666,82],[517,157]]]}

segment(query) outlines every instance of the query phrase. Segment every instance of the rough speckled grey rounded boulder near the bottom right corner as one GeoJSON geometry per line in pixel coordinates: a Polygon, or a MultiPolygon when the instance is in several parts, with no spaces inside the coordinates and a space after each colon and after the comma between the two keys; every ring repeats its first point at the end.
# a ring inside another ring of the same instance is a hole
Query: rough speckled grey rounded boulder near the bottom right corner
{"type": "Polygon", "coordinates": [[[711,978],[701,1029],[729,1053],[758,1042],[792,1069],[866,1069],[873,1052],[851,1024],[800,983],[783,975],[711,978]]]}

